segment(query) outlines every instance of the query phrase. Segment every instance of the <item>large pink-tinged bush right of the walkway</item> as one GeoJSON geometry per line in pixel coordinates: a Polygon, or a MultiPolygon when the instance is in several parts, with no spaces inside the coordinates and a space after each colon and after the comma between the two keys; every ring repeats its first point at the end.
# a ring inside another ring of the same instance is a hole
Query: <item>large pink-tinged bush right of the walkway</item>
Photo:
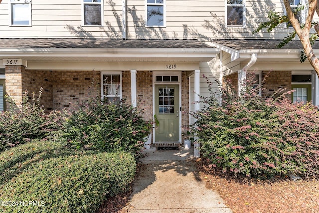
{"type": "Polygon", "coordinates": [[[234,175],[318,176],[318,108],[292,104],[289,92],[266,99],[258,93],[248,79],[240,97],[220,86],[220,94],[203,98],[206,106],[193,113],[197,121],[192,127],[202,155],[211,167],[234,175]]]}

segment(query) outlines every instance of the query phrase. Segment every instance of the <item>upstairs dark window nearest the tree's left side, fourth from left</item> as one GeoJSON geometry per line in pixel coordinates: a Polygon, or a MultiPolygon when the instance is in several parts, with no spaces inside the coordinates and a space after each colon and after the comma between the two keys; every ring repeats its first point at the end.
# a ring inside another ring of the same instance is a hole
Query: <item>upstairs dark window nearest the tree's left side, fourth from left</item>
{"type": "Polygon", "coordinates": [[[227,26],[245,26],[245,0],[227,0],[227,26]]]}

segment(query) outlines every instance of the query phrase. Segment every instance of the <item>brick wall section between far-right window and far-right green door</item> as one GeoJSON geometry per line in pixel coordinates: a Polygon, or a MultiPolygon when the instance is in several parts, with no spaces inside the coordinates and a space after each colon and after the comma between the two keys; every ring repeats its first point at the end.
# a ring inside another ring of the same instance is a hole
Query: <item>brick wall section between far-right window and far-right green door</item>
{"type": "MultiPolygon", "coordinates": [[[[263,84],[263,97],[271,96],[280,88],[286,89],[286,91],[291,90],[291,71],[263,71],[262,79],[267,73],[268,77],[263,84]]],[[[290,95],[287,97],[291,98],[290,95]]]]}

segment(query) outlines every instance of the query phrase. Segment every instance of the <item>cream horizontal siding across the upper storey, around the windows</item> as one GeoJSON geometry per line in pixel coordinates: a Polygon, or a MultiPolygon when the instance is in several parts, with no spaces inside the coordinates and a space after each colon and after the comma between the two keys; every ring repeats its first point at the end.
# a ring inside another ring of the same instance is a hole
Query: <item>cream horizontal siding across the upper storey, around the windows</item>
{"type": "MultiPolygon", "coordinates": [[[[122,38],[122,0],[104,0],[104,27],[81,26],[81,0],[32,0],[32,26],[9,27],[8,1],[0,4],[0,38],[122,38]]],[[[166,27],[153,28],[145,27],[145,0],[127,0],[127,38],[283,38],[291,31],[282,24],[274,32],[252,34],[269,10],[284,14],[281,0],[246,0],[245,28],[225,28],[225,5],[225,0],[166,0],[166,27]]]]}

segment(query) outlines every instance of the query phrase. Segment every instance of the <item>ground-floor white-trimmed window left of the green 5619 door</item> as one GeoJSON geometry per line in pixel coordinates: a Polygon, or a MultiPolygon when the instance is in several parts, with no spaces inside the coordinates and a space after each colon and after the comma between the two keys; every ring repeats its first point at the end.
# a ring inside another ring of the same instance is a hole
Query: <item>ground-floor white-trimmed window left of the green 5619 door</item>
{"type": "Polygon", "coordinates": [[[121,72],[101,72],[101,94],[104,101],[119,102],[122,99],[121,72]]]}

